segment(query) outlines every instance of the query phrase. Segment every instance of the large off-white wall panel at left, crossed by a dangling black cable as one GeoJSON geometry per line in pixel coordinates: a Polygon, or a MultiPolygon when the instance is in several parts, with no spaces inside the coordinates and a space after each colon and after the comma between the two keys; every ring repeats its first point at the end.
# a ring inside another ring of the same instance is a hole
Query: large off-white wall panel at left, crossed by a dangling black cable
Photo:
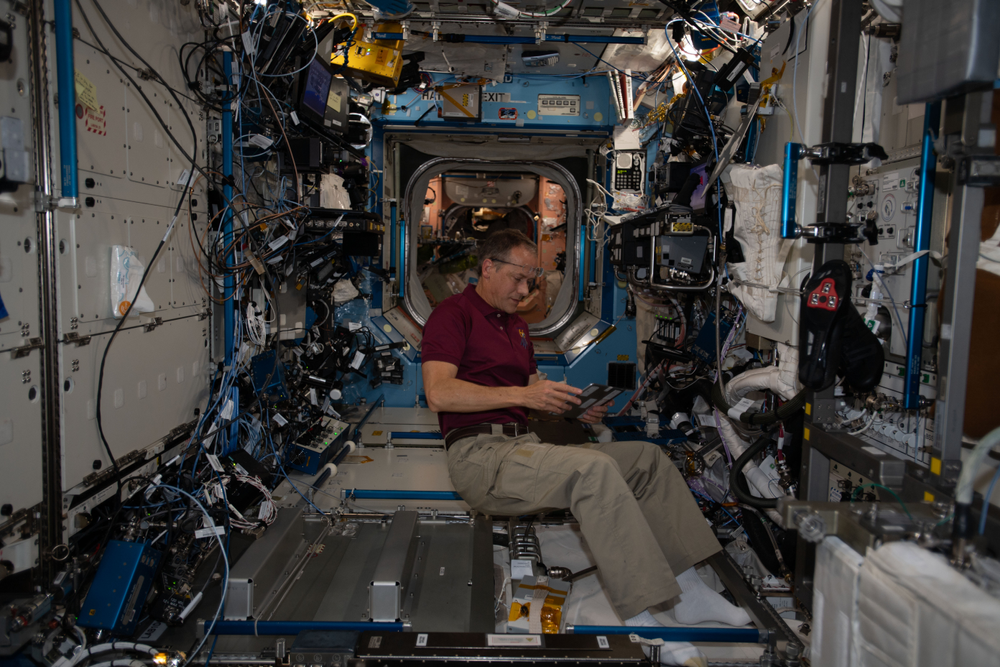
{"type": "MultiPolygon", "coordinates": [[[[80,484],[95,465],[110,465],[96,403],[101,358],[119,322],[113,317],[112,246],[132,248],[149,268],[145,288],[154,306],[141,316],[133,312],[108,354],[101,405],[115,458],[190,421],[196,408],[204,409],[210,379],[209,320],[200,319],[209,299],[194,249],[208,219],[205,182],[192,179],[190,196],[178,183],[190,170],[185,153],[205,162],[205,120],[186,97],[178,58],[182,44],[205,39],[197,3],[73,3],[73,25],[79,33],[76,72],[89,82],[96,108],[77,95],[80,207],[57,212],[65,489],[80,484]],[[154,260],[175,211],[176,225],[154,260]]],[[[54,53],[49,58],[54,67],[54,53]]],[[[53,143],[58,151],[58,138],[53,143]]]]}

